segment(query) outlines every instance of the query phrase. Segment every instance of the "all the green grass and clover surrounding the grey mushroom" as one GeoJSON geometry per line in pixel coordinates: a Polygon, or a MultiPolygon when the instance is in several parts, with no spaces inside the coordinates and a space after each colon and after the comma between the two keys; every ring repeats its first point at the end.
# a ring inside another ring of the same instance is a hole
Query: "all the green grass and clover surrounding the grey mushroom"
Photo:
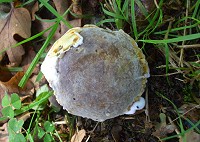
{"type": "MultiPolygon", "coordinates": [[[[30,2],[31,0],[26,1],[24,4],[22,4],[22,6],[25,6],[25,4],[30,2]]],[[[59,23],[62,21],[67,27],[72,28],[72,25],[70,25],[69,22],[64,18],[70,12],[70,8],[66,10],[63,15],[60,15],[48,3],[48,1],[39,0],[39,2],[40,7],[46,7],[53,15],[55,15],[56,18],[46,21],[54,22],[53,26],[17,43],[16,45],[13,45],[12,47],[9,47],[16,48],[17,46],[26,42],[30,42],[38,37],[41,37],[45,32],[50,31],[49,36],[46,38],[43,46],[20,81],[20,87],[23,87],[26,84],[33,72],[33,69],[39,63],[42,55],[44,55],[44,51],[47,46],[49,46],[59,23]]],[[[111,27],[114,27],[114,29],[123,29],[124,31],[128,31],[128,34],[130,34],[139,44],[142,44],[143,47],[150,45],[160,50],[165,57],[165,65],[163,66],[166,68],[166,76],[170,76],[169,71],[176,71],[182,75],[183,81],[187,80],[190,85],[193,86],[194,83],[200,80],[200,55],[195,54],[196,52],[194,48],[200,47],[200,1],[196,1],[190,5],[189,2],[189,0],[186,0],[185,7],[188,7],[188,9],[185,9],[180,16],[176,18],[173,16],[166,18],[164,16],[166,13],[163,11],[163,6],[166,4],[164,0],[160,0],[158,4],[156,3],[155,10],[153,11],[148,11],[148,9],[145,8],[140,0],[106,0],[104,4],[101,4],[102,11],[105,14],[105,19],[99,21],[97,25],[107,26],[110,24],[112,25],[111,27]],[[144,16],[146,23],[145,26],[140,27],[140,24],[137,22],[138,17],[136,15],[135,5],[138,6],[141,14],[144,16]],[[187,53],[185,53],[187,52],[186,49],[193,52],[193,55],[190,55],[192,56],[192,61],[184,58],[184,55],[187,55],[187,53]]],[[[42,20],[39,17],[36,18],[42,20]]],[[[9,48],[6,48],[5,50],[9,48]]],[[[1,51],[0,53],[4,51],[1,51]]],[[[10,68],[10,70],[18,71],[21,70],[21,68],[10,68]]],[[[39,81],[41,78],[42,74],[39,73],[37,81],[39,81]]],[[[47,117],[44,117],[43,114],[48,98],[52,94],[53,92],[51,91],[44,91],[40,93],[40,95],[29,105],[22,104],[22,106],[17,105],[17,107],[15,103],[10,101],[13,100],[12,98],[5,96],[3,99],[4,117],[0,118],[0,120],[9,119],[8,126],[10,139],[18,138],[22,141],[34,141],[34,136],[37,135],[39,138],[44,138],[45,141],[54,141],[55,139],[62,141],[62,138],[58,134],[57,128],[54,127],[53,122],[50,119],[51,114],[47,114],[47,117]],[[16,116],[28,111],[32,113],[32,118],[27,129],[24,129],[24,122],[21,120],[16,120],[16,116]],[[13,124],[18,125],[13,128],[13,124]],[[19,133],[21,129],[23,130],[23,135],[19,133]]],[[[186,141],[186,133],[194,129],[200,133],[200,130],[197,127],[200,125],[200,121],[193,124],[190,122],[190,120],[187,120],[192,127],[186,130],[183,124],[183,119],[185,118],[178,112],[176,105],[167,97],[165,97],[165,95],[161,95],[158,92],[157,94],[167,100],[173,106],[174,111],[177,114],[176,124],[180,130],[179,134],[163,138],[162,140],[169,140],[176,137],[186,141]]],[[[13,96],[15,100],[14,102],[20,101],[16,94],[13,96]]],[[[51,110],[51,112],[53,112],[53,110],[51,110]]],[[[64,137],[70,140],[75,131],[74,125],[76,118],[66,114],[65,119],[68,122],[69,134],[65,135],[64,137]]]]}

